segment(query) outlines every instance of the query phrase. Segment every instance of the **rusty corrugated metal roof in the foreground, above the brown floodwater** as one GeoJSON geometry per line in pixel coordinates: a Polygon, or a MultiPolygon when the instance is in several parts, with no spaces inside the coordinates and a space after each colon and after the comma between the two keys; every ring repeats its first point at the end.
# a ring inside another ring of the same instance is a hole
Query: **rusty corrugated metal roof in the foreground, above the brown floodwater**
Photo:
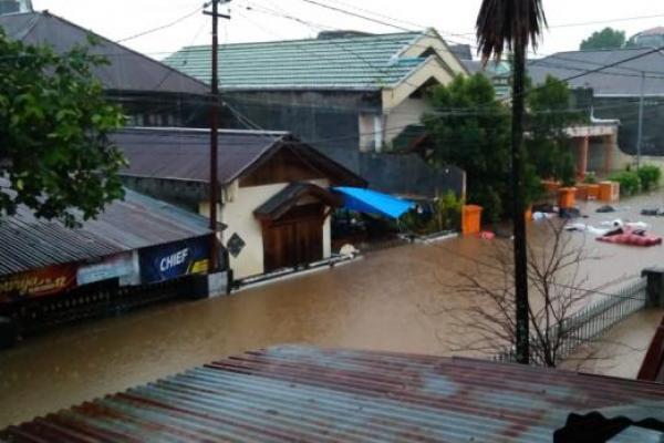
{"type": "Polygon", "coordinates": [[[664,385],[479,360],[278,347],[12,426],[0,437],[530,443],[551,442],[569,413],[596,410],[662,420],[664,385]]]}

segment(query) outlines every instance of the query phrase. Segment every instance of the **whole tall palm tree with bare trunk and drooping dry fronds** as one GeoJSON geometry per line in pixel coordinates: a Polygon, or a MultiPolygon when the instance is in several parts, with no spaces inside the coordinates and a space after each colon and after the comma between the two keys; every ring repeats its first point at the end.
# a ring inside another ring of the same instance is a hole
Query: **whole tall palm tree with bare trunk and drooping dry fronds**
{"type": "Polygon", "coordinates": [[[486,62],[491,56],[499,60],[504,51],[513,54],[512,70],[512,127],[511,127],[511,190],[512,223],[515,231],[515,281],[517,360],[528,364],[528,274],[526,248],[526,220],[523,212],[523,106],[526,83],[526,50],[537,41],[547,23],[541,0],[483,0],[477,17],[478,51],[486,62]]]}

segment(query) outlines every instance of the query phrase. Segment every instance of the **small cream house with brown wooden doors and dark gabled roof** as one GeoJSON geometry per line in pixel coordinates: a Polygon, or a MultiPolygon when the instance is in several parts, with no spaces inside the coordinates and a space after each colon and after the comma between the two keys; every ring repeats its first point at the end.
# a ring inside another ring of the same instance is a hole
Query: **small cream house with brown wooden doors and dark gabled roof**
{"type": "MultiPolygon", "coordinates": [[[[112,135],[127,186],[209,214],[209,130],[127,128],[112,135]]],[[[366,182],[286,132],[219,132],[219,222],[235,277],[330,258],[331,186],[366,182]]]]}

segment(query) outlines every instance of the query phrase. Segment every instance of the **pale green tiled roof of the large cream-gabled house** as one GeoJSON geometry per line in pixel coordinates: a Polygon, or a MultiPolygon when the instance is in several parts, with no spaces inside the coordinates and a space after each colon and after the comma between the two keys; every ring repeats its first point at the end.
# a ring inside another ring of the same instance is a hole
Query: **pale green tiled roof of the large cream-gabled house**
{"type": "MultiPolygon", "coordinates": [[[[221,45],[219,86],[376,90],[395,85],[425,63],[426,58],[400,56],[422,35],[404,32],[221,45]]],[[[209,45],[188,47],[164,62],[209,83],[210,55],[209,45]]]]}

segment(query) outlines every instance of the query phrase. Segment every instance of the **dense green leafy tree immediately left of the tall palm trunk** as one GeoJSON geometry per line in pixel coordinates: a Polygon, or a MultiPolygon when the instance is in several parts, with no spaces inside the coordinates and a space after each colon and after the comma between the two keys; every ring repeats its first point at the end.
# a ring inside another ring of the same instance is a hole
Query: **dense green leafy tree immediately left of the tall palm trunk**
{"type": "Polygon", "coordinates": [[[483,206],[486,219],[498,222],[509,200],[508,110],[483,74],[457,76],[433,89],[430,103],[434,112],[423,119],[435,143],[429,163],[466,171],[468,202],[483,206]]]}

